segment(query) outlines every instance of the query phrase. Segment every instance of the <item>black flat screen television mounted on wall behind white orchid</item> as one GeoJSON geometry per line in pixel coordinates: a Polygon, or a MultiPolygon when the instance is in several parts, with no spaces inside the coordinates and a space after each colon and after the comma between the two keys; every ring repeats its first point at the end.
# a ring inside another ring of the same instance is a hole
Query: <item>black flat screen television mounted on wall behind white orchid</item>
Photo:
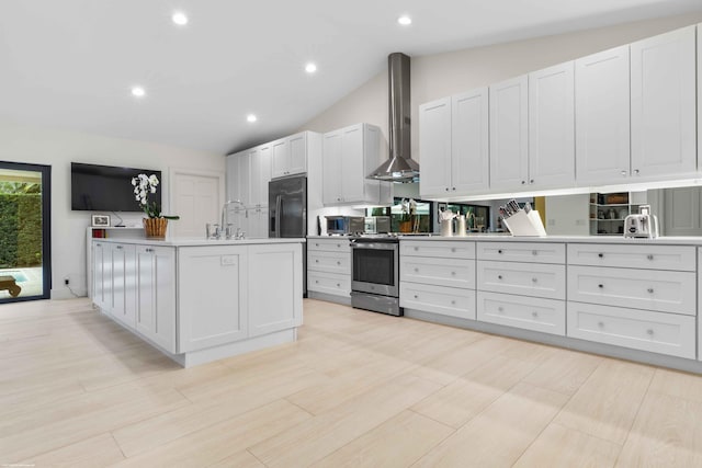
{"type": "MultiPolygon", "coordinates": [[[[79,212],[140,212],[134,195],[132,178],[156,174],[151,169],[116,168],[113,165],[70,163],[70,208],[79,212]]],[[[161,191],[149,194],[149,204],[161,205],[161,191]]]]}

